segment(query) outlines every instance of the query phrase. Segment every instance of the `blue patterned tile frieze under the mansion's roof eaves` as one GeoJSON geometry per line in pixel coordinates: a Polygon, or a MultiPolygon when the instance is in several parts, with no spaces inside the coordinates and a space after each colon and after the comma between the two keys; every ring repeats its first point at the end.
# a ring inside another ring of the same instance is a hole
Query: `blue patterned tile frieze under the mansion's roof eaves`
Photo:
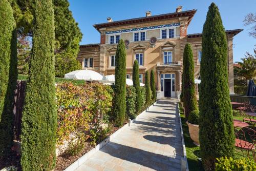
{"type": "Polygon", "coordinates": [[[172,24],[164,24],[164,25],[150,26],[150,27],[140,27],[140,28],[117,30],[117,31],[107,31],[106,34],[126,33],[126,32],[132,32],[132,31],[157,29],[157,28],[172,27],[172,26],[179,26],[179,25],[180,25],[180,23],[172,23],[172,24]]]}

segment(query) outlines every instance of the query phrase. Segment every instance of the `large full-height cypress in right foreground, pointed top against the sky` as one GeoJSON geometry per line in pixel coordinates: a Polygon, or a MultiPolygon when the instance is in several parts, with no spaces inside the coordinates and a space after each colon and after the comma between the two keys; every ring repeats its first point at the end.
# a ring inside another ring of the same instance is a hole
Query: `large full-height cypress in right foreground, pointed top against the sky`
{"type": "Polygon", "coordinates": [[[227,38],[218,7],[212,3],[202,34],[199,98],[199,141],[206,170],[214,170],[216,158],[234,154],[232,108],[227,71],[227,38]]]}

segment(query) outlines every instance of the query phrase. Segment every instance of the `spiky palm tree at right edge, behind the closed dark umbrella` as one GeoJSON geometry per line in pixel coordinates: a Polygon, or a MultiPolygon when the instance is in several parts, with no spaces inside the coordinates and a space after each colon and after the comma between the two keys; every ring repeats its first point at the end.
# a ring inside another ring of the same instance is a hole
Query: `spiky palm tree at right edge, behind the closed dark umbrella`
{"type": "Polygon", "coordinates": [[[246,52],[245,58],[241,59],[243,62],[237,62],[240,67],[234,68],[238,75],[250,80],[256,77],[256,48],[254,49],[254,56],[246,52]]]}

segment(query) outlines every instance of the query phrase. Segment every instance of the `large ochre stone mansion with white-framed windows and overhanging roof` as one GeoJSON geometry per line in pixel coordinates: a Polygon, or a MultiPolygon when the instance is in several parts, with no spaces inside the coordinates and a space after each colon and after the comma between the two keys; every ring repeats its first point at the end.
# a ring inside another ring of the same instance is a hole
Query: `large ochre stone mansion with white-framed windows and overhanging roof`
{"type": "MultiPolygon", "coordinates": [[[[100,33],[99,44],[81,45],[78,60],[82,69],[91,69],[102,75],[115,74],[117,43],[123,39],[126,48],[126,78],[132,79],[133,63],[138,60],[140,82],[145,82],[145,72],[154,69],[158,97],[177,97],[181,91],[183,51],[186,43],[194,52],[195,79],[200,79],[202,33],[187,34],[187,29],[197,10],[151,15],[128,20],[95,24],[100,33]]],[[[229,91],[234,92],[233,36],[241,29],[226,30],[228,42],[229,91]]]]}

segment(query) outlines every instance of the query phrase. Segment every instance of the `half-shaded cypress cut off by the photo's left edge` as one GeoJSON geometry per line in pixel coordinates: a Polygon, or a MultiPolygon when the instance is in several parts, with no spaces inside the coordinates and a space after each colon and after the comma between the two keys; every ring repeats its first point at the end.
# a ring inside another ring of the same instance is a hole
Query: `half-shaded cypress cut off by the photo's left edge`
{"type": "Polygon", "coordinates": [[[13,141],[13,102],[17,80],[17,33],[12,7],[0,0],[0,158],[13,141]]]}

